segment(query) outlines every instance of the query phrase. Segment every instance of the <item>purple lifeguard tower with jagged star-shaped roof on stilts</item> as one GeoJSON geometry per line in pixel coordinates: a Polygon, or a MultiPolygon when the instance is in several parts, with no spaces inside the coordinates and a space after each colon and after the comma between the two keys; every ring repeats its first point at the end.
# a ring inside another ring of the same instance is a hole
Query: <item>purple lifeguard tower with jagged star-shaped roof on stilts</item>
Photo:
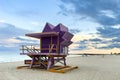
{"type": "Polygon", "coordinates": [[[31,60],[25,60],[25,64],[29,64],[30,68],[42,66],[50,69],[57,62],[66,66],[68,46],[72,43],[71,39],[73,37],[73,34],[68,32],[67,27],[61,23],[57,26],[46,23],[42,33],[25,35],[40,40],[40,45],[37,47],[35,45],[22,45],[20,54],[31,57],[31,60]]]}

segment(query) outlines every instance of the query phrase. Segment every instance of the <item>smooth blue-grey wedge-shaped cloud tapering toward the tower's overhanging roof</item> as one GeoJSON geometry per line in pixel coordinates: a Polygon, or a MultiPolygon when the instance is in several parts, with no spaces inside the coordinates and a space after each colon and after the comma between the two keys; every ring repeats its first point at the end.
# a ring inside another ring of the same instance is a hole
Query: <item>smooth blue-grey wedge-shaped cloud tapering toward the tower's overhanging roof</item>
{"type": "Polygon", "coordinates": [[[0,22],[0,38],[12,38],[20,35],[25,35],[25,33],[28,33],[30,31],[20,29],[15,27],[12,24],[8,23],[2,23],[0,22]]]}

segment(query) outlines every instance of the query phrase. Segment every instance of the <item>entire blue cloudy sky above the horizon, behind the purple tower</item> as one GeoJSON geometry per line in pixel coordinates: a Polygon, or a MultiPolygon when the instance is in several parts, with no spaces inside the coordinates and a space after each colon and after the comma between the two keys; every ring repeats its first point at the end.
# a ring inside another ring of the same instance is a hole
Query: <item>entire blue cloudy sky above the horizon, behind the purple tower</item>
{"type": "Polygon", "coordinates": [[[19,53],[39,43],[26,33],[46,22],[62,23],[74,34],[69,53],[120,52],[120,0],[0,0],[0,53],[19,53]]]}

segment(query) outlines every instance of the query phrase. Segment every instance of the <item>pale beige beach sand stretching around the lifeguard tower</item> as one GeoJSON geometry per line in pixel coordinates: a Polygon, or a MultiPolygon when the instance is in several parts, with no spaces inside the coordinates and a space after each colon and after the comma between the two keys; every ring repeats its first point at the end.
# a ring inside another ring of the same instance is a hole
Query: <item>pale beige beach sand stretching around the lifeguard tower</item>
{"type": "Polygon", "coordinates": [[[106,55],[67,58],[78,69],[53,73],[41,69],[17,69],[23,62],[0,63],[0,80],[120,80],[120,56],[106,55]]]}

